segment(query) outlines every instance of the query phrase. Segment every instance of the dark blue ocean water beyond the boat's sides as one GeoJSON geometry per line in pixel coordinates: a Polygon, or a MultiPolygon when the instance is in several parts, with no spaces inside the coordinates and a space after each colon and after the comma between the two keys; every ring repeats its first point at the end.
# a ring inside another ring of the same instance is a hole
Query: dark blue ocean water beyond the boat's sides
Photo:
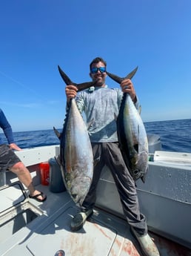
{"type": "MultiPolygon", "coordinates": [[[[191,119],[145,122],[144,125],[147,134],[160,136],[162,150],[191,153],[191,119]]],[[[59,144],[53,130],[13,132],[13,135],[20,148],[59,144]]],[[[4,134],[0,136],[7,143],[4,134]]]]}

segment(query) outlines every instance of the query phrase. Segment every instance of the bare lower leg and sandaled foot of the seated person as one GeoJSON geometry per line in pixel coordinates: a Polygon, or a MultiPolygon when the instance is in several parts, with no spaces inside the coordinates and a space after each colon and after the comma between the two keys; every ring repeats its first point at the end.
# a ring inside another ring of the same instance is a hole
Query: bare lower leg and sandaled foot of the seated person
{"type": "MultiPolygon", "coordinates": [[[[28,188],[28,190],[30,191],[30,196],[40,194],[40,191],[36,190],[36,188],[33,186],[33,180],[30,175],[30,171],[24,166],[23,163],[16,163],[10,168],[10,171],[13,171],[13,173],[16,174],[19,178],[20,182],[28,188]]],[[[41,195],[39,195],[38,199],[42,200],[43,198],[41,197],[41,195]]]]}

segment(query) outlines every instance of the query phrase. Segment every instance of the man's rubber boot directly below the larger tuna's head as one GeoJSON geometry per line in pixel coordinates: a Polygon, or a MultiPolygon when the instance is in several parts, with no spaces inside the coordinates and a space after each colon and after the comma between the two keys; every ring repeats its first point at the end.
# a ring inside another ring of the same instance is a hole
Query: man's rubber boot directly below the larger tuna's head
{"type": "Polygon", "coordinates": [[[73,231],[77,231],[84,226],[85,221],[87,220],[88,217],[90,217],[93,214],[93,209],[90,209],[88,211],[84,212],[78,212],[74,217],[73,220],[70,224],[70,228],[73,231]]]}

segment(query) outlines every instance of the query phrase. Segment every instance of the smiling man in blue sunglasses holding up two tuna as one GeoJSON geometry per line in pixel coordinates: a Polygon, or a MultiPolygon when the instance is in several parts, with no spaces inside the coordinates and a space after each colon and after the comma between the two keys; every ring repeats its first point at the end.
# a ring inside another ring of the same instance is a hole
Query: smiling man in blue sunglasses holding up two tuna
{"type": "Polygon", "coordinates": [[[82,204],[81,211],[73,217],[70,227],[73,231],[81,229],[87,218],[93,214],[93,207],[96,203],[96,186],[102,168],[107,165],[113,174],[131,232],[138,240],[144,255],[158,256],[158,249],[147,233],[146,217],[139,211],[135,181],[124,163],[118,146],[115,116],[118,115],[123,93],[130,94],[137,109],[140,107],[138,97],[130,79],[124,79],[121,82],[121,89],[108,88],[105,84],[106,67],[107,63],[100,57],[93,59],[90,63],[90,77],[93,81],[97,81],[94,88],[81,91],[78,95],[76,86],[67,85],[65,88],[67,102],[77,96],[78,110],[81,113],[84,111],[87,123],[91,122],[88,132],[96,163],[90,191],[82,204]]]}

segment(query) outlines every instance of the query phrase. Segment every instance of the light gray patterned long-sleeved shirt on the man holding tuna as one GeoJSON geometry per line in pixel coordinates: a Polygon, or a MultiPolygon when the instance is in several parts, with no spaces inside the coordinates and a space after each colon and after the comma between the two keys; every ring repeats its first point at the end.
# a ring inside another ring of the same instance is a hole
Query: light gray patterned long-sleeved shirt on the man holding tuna
{"type": "MultiPolygon", "coordinates": [[[[123,93],[118,88],[93,88],[76,96],[78,110],[84,112],[91,142],[117,142],[116,118],[123,93]]],[[[139,107],[138,101],[135,107],[139,107]]]]}

